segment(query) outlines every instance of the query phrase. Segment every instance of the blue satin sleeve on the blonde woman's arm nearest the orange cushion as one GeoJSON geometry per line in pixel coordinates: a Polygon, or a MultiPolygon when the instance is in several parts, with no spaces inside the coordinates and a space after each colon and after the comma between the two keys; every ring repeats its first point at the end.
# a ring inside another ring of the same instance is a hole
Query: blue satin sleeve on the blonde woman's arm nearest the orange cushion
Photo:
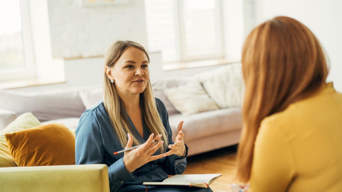
{"type": "MultiPolygon", "coordinates": [[[[104,146],[98,122],[92,111],[82,114],[76,129],[76,164],[105,164],[104,146]]],[[[108,166],[110,191],[116,191],[126,181],[134,179],[123,163],[123,158],[108,166]]]]}

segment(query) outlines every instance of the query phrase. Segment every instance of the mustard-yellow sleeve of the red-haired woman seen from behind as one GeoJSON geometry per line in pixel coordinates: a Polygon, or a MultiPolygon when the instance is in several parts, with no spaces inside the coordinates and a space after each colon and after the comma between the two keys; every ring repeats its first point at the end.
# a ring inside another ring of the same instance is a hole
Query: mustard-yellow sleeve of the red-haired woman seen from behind
{"type": "Polygon", "coordinates": [[[264,120],[255,140],[248,191],[287,191],[294,174],[293,154],[284,131],[264,120]]]}

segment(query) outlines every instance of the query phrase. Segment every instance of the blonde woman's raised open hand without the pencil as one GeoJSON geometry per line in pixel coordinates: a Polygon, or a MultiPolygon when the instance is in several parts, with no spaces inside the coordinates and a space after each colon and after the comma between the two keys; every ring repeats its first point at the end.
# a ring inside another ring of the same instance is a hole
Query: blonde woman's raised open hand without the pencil
{"type": "Polygon", "coordinates": [[[172,154],[178,155],[178,156],[183,156],[185,153],[185,145],[184,145],[184,133],[182,131],[182,126],[183,126],[184,121],[181,121],[178,124],[178,135],[174,141],[173,145],[169,145],[169,149],[171,149],[170,151],[164,153],[163,157],[165,156],[169,156],[172,154]]]}

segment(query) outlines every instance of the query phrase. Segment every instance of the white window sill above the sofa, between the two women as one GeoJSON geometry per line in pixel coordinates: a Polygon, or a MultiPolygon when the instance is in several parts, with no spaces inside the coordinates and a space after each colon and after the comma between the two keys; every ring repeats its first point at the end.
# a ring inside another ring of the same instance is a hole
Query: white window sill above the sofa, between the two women
{"type": "Polygon", "coordinates": [[[172,71],[180,69],[198,68],[198,67],[209,67],[216,65],[226,65],[232,63],[238,63],[239,60],[228,60],[228,59],[209,59],[200,61],[188,61],[188,62],[173,62],[164,63],[162,65],[163,71],[172,71]]]}

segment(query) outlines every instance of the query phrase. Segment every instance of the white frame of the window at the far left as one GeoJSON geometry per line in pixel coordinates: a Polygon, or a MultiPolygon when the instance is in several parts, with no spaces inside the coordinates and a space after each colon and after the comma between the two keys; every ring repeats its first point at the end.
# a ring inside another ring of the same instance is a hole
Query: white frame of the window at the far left
{"type": "Polygon", "coordinates": [[[0,70],[0,81],[36,78],[36,64],[32,42],[30,11],[28,0],[19,0],[25,67],[0,70]]]}

